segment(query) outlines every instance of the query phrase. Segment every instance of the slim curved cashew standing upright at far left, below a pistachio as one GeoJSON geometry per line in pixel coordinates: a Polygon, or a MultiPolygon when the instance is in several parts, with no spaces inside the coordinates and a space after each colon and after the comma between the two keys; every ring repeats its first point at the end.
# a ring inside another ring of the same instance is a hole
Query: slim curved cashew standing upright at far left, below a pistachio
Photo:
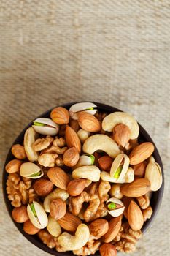
{"type": "Polygon", "coordinates": [[[36,151],[33,148],[33,143],[35,142],[36,138],[38,137],[38,134],[34,131],[33,127],[29,127],[24,135],[24,148],[26,151],[26,156],[28,157],[28,160],[30,162],[37,161],[39,155],[36,153],[36,151]]]}

